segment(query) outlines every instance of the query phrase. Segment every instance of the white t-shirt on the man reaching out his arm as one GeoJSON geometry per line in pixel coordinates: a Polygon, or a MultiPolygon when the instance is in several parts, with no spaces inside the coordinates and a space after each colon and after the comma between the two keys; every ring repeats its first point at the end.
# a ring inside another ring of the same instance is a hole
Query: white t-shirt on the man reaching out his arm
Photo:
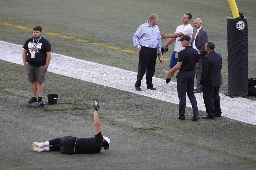
{"type": "MultiPolygon", "coordinates": [[[[189,35],[190,38],[192,39],[192,35],[193,35],[193,27],[191,26],[191,24],[188,25],[180,25],[177,27],[175,33],[179,33],[182,32],[184,35],[189,35]]],[[[179,52],[180,50],[183,50],[185,47],[182,47],[182,45],[180,44],[181,42],[178,41],[181,37],[176,38],[176,42],[175,42],[175,46],[174,46],[174,50],[173,51],[177,51],[179,52]]]]}

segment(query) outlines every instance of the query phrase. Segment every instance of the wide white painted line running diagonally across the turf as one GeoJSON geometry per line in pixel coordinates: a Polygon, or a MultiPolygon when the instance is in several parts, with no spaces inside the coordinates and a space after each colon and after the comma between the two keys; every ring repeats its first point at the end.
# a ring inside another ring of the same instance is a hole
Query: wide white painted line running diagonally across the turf
{"type": "MultiPolygon", "coordinates": [[[[0,41],[1,60],[23,65],[22,51],[23,48],[21,45],[0,41]]],[[[141,86],[142,91],[136,91],[134,87],[135,81],[137,79],[136,72],[122,70],[119,68],[105,66],[102,64],[80,60],[55,53],[52,53],[48,71],[120,90],[130,91],[132,93],[140,94],[143,96],[179,104],[176,82],[172,82],[172,87],[170,88],[157,88],[157,85],[162,84],[165,80],[153,77],[152,83],[156,87],[156,90],[147,90],[145,81],[146,77],[144,77],[141,86]]],[[[195,96],[197,99],[198,109],[206,111],[202,93],[195,94],[195,96]]],[[[191,107],[188,98],[186,98],[186,101],[186,106],[191,107]]],[[[241,97],[230,98],[225,94],[220,94],[220,102],[222,116],[256,125],[255,101],[251,101],[241,97]]]]}

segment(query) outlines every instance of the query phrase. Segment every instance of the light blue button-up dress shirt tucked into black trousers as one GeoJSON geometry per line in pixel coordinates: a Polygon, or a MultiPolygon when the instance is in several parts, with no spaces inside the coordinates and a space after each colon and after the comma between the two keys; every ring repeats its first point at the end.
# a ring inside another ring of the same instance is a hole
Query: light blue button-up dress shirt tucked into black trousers
{"type": "Polygon", "coordinates": [[[161,34],[158,26],[153,25],[153,27],[151,27],[148,21],[142,24],[133,36],[133,44],[137,48],[142,45],[149,48],[157,47],[158,51],[161,51],[161,34]]]}

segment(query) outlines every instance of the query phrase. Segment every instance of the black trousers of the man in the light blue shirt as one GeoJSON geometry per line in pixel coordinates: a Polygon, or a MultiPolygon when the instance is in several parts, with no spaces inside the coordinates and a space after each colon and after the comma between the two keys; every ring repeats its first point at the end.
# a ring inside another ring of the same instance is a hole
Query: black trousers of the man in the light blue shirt
{"type": "Polygon", "coordinates": [[[147,71],[147,74],[146,74],[147,87],[153,87],[152,77],[155,74],[156,56],[157,56],[157,48],[141,47],[137,81],[134,85],[135,87],[141,86],[141,80],[146,71],[147,71]]]}

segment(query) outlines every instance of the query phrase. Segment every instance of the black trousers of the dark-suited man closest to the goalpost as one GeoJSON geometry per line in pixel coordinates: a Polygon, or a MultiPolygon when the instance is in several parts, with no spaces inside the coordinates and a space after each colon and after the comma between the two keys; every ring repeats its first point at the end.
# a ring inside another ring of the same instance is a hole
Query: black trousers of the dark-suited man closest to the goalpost
{"type": "Polygon", "coordinates": [[[221,115],[219,89],[220,86],[211,86],[211,80],[208,80],[206,83],[202,84],[204,103],[208,117],[221,115]]]}

